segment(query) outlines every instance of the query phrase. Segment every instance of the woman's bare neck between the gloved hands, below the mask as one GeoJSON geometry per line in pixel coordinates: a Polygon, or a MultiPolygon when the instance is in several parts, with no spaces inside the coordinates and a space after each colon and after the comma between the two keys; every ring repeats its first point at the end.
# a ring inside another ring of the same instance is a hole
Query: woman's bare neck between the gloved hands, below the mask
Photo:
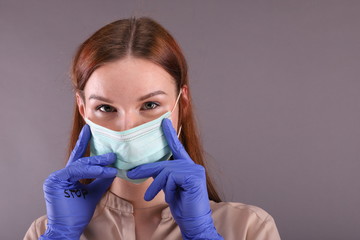
{"type": "Polygon", "coordinates": [[[149,178],[143,183],[135,184],[116,177],[110,187],[110,191],[130,202],[134,209],[149,208],[166,204],[163,191],[160,191],[156,197],[149,202],[144,200],[145,192],[152,182],[153,179],[149,178]]]}

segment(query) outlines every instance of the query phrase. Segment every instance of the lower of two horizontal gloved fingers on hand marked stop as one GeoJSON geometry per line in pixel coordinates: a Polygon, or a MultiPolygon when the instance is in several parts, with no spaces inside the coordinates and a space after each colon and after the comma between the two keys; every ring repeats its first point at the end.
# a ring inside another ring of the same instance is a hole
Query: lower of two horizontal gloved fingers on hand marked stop
{"type": "Polygon", "coordinates": [[[93,165],[70,165],[53,175],[58,181],[76,182],[86,178],[112,178],[117,174],[113,167],[102,167],[93,165]]]}

